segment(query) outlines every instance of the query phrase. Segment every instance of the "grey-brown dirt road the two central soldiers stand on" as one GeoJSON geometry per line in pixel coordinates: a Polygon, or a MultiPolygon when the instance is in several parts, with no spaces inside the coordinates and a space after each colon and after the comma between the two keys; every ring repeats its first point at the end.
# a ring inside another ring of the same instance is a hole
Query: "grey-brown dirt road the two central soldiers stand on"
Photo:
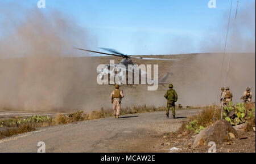
{"type": "Polygon", "coordinates": [[[160,146],[163,133],[176,131],[198,112],[177,110],[177,119],[167,119],[163,111],[130,114],[40,128],[0,140],[0,152],[37,152],[39,141],[46,144],[46,152],[165,152],[160,146]]]}

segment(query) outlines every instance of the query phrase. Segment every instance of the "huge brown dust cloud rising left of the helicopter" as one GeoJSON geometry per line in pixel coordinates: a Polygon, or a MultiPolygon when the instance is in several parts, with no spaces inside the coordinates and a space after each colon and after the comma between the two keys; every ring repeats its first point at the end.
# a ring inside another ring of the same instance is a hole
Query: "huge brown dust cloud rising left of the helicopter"
{"type": "Polygon", "coordinates": [[[95,73],[90,69],[93,63],[89,57],[77,57],[73,49],[88,46],[86,31],[61,12],[21,8],[14,14],[19,8],[16,4],[0,6],[1,27],[6,27],[0,37],[0,109],[50,111],[86,106],[86,89],[95,81],[90,78],[95,73]],[[6,7],[9,10],[2,10],[6,7]]]}

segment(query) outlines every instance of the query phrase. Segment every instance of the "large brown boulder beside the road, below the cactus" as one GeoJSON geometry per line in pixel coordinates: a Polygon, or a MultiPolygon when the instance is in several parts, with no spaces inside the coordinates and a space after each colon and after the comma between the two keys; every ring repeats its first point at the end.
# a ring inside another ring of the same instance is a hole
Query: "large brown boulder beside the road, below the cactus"
{"type": "Polygon", "coordinates": [[[192,148],[207,145],[210,141],[221,144],[238,137],[237,131],[226,120],[218,120],[212,126],[205,128],[197,136],[192,148]]]}

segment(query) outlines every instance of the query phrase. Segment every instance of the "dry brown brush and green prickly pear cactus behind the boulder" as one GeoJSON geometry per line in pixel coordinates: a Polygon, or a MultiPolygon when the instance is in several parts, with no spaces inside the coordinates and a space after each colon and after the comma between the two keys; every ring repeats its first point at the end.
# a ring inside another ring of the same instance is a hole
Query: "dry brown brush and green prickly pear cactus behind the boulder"
{"type": "MultiPolygon", "coordinates": [[[[214,112],[216,112],[215,121],[220,120],[221,107],[215,105],[208,106],[198,115],[190,116],[188,121],[184,122],[179,128],[177,134],[184,132],[199,133],[204,130],[205,127],[214,123],[214,112]]],[[[245,105],[244,103],[237,103],[237,105],[233,105],[233,103],[230,102],[229,106],[224,107],[222,119],[227,120],[233,126],[246,124],[247,130],[253,131],[253,127],[255,128],[255,102],[249,105],[245,105]]]]}

